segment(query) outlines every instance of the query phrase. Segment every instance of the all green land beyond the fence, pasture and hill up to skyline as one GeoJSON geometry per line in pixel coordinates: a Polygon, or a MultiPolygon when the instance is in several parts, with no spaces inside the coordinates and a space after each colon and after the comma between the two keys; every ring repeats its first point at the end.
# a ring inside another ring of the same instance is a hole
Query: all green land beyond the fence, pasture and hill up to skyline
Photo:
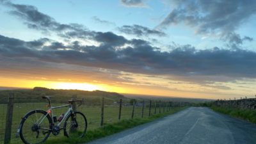
{"type": "MultiPolygon", "coordinates": [[[[34,88],[33,90],[3,90],[0,91],[0,143],[3,143],[4,140],[4,131],[6,129],[6,102],[10,93],[14,94],[14,108],[13,108],[13,120],[12,120],[12,127],[7,129],[12,129],[12,138],[11,143],[22,143],[20,138],[15,138],[15,133],[17,128],[19,127],[20,120],[22,116],[33,109],[43,109],[47,110],[47,103],[41,97],[45,95],[51,95],[52,97],[52,106],[61,106],[63,104],[67,104],[68,99],[72,99],[75,97],[76,99],[84,99],[85,103],[77,108],[77,111],[81,111],[87,118],[88,122],[88,131],[99,131],[100,128],[100,120],[101,120],[101,106],[102,106],[102,97],[104,97],[104,125],[109,124],[120,124],[122,120],[127,120],[126,123],[130,125],[131,116],[132,116],[132,103],[135,102],[134,108],[134,125],[143,124],[148,122],[146,120],[148,118],[149,113],[149,101],[150,99],[143,99],[143,98],[127,98],[124,95],[120,95],[119,93],[112,93],[112,92],[102,92],[102,91],[81,91],[81,90],[52,90],[47,88],[34,88]],[[122,111],[121,111],[121,118],[118,120],[119,115],[119,105],[120,99],[122,98],[122,111]],[[142,107],[143,107],[143,100],[145,100],[145,108],[143,109],[143,119],[138,120],[141,118],[142,114],[142,107]],[[136,119],[136,120],[135,120],[136,119]]],[[[152,108],[151,108],[151,115],[155,115],[158,113],[163,113],[163,111],[167,111],[168,106],[170,106],[170,99],[163,100],[161,99],[161,103],[159,103],[159,99],[152,100],[152,108]],[[155,106],[157,104],[157,106],[155,106]],[[161,104],[161,108],[159,108],[159,104],[161,104]],[[155,109],[156,107],[156,109],[155,109]]],[[[188,106],[188,102],[173,102],[173,107],[188,106]]],[[[65,113],[67,108],[61,109],[54,109],[53,115],[57,117],[61,115],[61,113],[65,113]]],[[[157,115],[155,115],[157,116],[157,115]]],[[[154,119],[154,118],[153,118],[154,119]]],[[[150,117],[150,120],[153,120],[150,117]]],[[[123,127],[126,123],[122,124],[118,127],[123,127]]],[[[130,125],[129,127],[132,127],[130,125]]],[[[127,127],[124,127],[126,129],[127,127]]],[[[123,129],[123,128],[122,128],[123,129]]],[[[103,131],[103,130],[100,130],[103,131]]],[[[105,131],[105,130],[104,130],[105,131]]],[[[118,131],[121,131],[120,129],[118,131]]],[[[103,132],[104,133],[104,132],[103,132]]],[[[111,134],[113,132],[108,132],[111,134]]],[[[93,135],[93,132],[92,134],[93,135]]],[[[103,134],[104,135],[104,134],[103,134]]],[[[48,141],[59,139],[63,137],[63,132],[60,133],[58,136],[53,136],[51,134],[48,141]]],[[[87,137],[89,138],[89,137],[87,137]]],[[[95,136],[92,136],[93,140],[95,136]]]]}

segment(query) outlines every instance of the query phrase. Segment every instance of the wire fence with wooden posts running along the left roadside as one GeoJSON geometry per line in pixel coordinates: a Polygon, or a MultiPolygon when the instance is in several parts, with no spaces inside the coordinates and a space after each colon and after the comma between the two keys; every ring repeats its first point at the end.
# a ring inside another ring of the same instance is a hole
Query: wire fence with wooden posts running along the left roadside
{"type": "MultiPolygon", "coordinates": [[[[101,102],[84,102],[77,107],[87,118],[88,129],[92,130],[104,124],[111,124],[119,120],[132,118],[147,118],[157,113],[165,113],[171,109],[185,106],[186,102],[170,102],[159,100],[119,99],[113,102],[102,99],[101,102]]],[[[13,94],[10,94],[6,104],[0,104],[0,143],[22,143],[20,138],[15,138],[15,133],[22,116],[33,109],[47,109],[46,102],[19,103],[13,94]],[[14,102],[15,101],[15,102],[14,102]]],[[[52,106],[59,106],[54,103],[52,106]]],[[[54,109],[61,115],[67,108],[54,109]]],[[[61,134],[60,134],[61,135],[61,134]]]]}

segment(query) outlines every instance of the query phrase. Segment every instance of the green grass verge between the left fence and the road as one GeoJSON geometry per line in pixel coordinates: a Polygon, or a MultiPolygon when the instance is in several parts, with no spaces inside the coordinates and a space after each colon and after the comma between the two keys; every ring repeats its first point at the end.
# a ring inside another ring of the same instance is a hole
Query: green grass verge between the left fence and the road
{"type": "MultiPolygon", "coordinates": [[[[159,113],[156,115],[152,115],[148,118],[134,118],[134,119],[128,119],[128,120],[121,120],[120,122],[116,122],[114,124],[104,124],[104,126],[102,126],[102,127],[87,131],[86,136],[82,139],[81,138],[71,139],[71,138],[66,138],[65,136],[58,136],[56,138],[51,138],[51,140],[45,141],[45,144],[88,143],[89,141],[97,140],[99,138],[104,138],[111,134],[115,134],[117,132],[124,131],[125,129],[130,129],[132,127],[136,127],[141,124],[152,122],[152,121],[156,120],[157,118],[163,118],[164,116],[172,115],[173,113],[177,113],[178,111],[181,111],[186,108],[188,108],[188,107],[174,108],[165,113],[159,113]]],[[[90,125],[89,125],[89,127],[90,127],[90,125]]]]}

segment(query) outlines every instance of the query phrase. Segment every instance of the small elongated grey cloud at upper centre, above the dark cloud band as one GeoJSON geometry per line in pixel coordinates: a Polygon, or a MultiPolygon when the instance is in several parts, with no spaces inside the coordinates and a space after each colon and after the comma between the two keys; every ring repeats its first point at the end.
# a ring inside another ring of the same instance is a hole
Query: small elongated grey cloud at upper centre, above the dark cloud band
{"type": "Polygon", "coordinates": [[[166,36],[166,33],[162,31],[158,31],[156,29],[149,29],[144,26],[140,26],[134,24],[133,26],[122,26],[118,28],[119,31],[122,33],[126,33],[128,35],[136,35],[136,36],[149,36],[149,35],[156,35],[156,36],[166,36]]]}

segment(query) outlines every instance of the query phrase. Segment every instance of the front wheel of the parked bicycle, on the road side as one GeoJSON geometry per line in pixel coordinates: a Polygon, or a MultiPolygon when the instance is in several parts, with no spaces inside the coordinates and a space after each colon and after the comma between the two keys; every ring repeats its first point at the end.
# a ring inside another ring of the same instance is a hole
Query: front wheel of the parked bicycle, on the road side
{"type": "Polygon", "coordinates": [[[83,113],[74,112],[67,116],[63,125],[65,136],[68,138],[83,138],[87,129],[87,120],[83,113]]]}

